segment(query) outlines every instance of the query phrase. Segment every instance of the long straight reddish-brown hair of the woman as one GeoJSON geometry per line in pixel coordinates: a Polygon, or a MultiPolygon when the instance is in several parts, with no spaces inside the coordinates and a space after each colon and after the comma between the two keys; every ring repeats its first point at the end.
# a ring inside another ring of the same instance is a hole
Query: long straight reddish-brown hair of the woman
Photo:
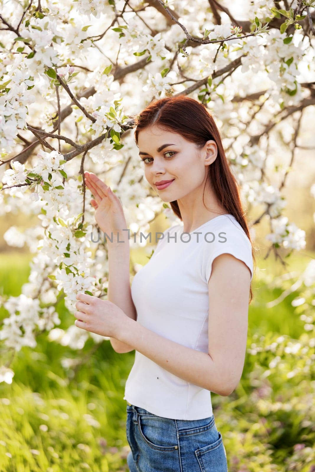
{"type": "MultiPolygon", "coordinates": [[[[137,146],[139,131],[152,125],[184,136],[187,141],[195,143],[198,149],[202,149],[206,141],[210,139],[215,141],[218,154],[214,162],[208,166],[208,178],[218,201],[221,202],[227,213],[237,219],[240,226],[244,229],[252,245],[252,256],[255,266],[253,241],[249,234],[245,212],[242,207],[238,182],[230,169],[229,161],[223,149],[220,132],[208,109],[191,97],[176,95],[151,101],[134,118],[134,126],[136,127],[134,136],[137,146]]],[[[182,220],[177,200],[170,202],[170,206],[176,216],[182,220]]],[[[249,303],[251,303],[252,298],[252,284],[250,284],[249,303]]]]}

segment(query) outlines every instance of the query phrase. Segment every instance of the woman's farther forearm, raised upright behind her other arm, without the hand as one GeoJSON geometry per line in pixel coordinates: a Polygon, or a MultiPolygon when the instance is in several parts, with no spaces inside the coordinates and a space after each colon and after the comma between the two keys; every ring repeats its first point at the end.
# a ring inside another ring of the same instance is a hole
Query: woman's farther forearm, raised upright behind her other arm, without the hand
{"type": "MultiPolygon", "coordinates": [[[[127,234],[127,232],[125,232],[125,234],[127,234]]],[[[117,245],[114,246],[108,244],[109,280],[107,299],[119,306],[131,320],[136,321],[136,308],[131,297],[130,287],[129,240],[126,236],[124,239],[121,238],[120,240],[124,240],[124,242],[117,243],[117,245]]],[[[111,337],[110,341],[113,349],[119,354],[134,350],[134,347],[114,337],[111,337]]]]}

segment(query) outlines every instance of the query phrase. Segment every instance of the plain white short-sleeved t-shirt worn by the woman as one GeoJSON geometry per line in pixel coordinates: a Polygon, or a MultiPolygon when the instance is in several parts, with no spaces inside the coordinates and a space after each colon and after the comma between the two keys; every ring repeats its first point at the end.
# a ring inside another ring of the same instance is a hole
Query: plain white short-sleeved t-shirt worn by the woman
{"type": "MultiPolygon", "coordinates": [[[[176,343],[208,353],[212,261],[219,254],[232,254],[246,263],[252,279],[252,248],[230,214],[219,215],[189,234],[182,233],[183,224],[164,231],[151,259],[133,278],[131,295],[138,323],[176,343]]],[[[209,390],[180,379],[138,351],[124,399],[164,418],[199,420],[213,414],[209,390]]]]}

